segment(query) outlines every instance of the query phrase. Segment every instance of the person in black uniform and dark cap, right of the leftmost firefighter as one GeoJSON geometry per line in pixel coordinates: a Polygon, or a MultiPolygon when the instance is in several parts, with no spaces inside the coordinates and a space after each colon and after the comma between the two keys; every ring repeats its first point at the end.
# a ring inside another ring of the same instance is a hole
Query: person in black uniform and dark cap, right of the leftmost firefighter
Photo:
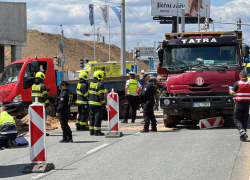
{"type": "Polygon", "coordinates": [[[63,131],[63,139],[59,141],[60,143],[73,142],[72,132],[68,124],[73,94],[69,91],[68,86],[69,83],[66,81],[61,81],[59,84],[62,92],[58,98],[56,116],[60,118],[60,124],[63,131]]]}

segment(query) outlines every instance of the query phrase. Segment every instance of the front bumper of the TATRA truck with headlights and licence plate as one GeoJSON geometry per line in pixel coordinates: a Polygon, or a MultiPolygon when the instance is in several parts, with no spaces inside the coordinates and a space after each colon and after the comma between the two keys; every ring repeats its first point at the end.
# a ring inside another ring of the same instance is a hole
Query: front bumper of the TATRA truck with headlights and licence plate
{"type": "Polygon", "coordinates": [[[176,96],[161,97],[161,108],[223,108],[233,107],[233,96],[176,96]]]}

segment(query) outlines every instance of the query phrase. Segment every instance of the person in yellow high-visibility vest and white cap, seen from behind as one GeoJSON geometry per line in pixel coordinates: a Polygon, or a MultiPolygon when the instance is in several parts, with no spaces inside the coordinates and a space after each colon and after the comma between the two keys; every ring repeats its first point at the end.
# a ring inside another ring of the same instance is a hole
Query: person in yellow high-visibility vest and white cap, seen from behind
{"type": "Polygon", "coordinates": [[[129,80],[126,81],[125,85],[125,97],[127,98],[127,101],[125,103],[125,115],[124,115],[124,120],[121,123],[128,123],[128,115],[129,115],[129,110],[130,107],[132,107],[132,121],[131,123],[135,123],[136,119],[136,110],[138,108],[138,95],[136,91],[138,88],[141,88],[141,84],[139,81],[135,79],[135,73],[130,72],[129,73],[129,80]]]}

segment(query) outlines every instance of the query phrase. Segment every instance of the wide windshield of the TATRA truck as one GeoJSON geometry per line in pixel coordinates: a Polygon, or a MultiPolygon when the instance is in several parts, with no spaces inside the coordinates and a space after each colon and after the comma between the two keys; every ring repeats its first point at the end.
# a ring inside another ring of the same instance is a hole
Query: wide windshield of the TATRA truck
{"type": "Polygon", "coordinates": [[[239,64],[237,46],[191,46],[164,49],[163,67],[239,64]]]}

